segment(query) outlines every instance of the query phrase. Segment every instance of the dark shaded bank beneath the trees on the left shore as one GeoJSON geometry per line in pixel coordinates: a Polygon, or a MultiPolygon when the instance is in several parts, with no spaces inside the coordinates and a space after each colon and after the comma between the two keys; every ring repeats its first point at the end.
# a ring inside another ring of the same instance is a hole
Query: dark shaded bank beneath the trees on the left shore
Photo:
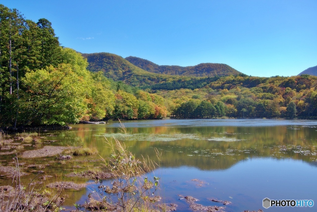
{"type": "Polygon", "coordinates": [[[37,127],[0,127],[0,130],[5,133],[18,133],[18,132],[41,132],[41,131],[51,131],[51,130],[66,130],[71,129],[68,126],[60,126],[60,125],[43,125],[37,127]]]}

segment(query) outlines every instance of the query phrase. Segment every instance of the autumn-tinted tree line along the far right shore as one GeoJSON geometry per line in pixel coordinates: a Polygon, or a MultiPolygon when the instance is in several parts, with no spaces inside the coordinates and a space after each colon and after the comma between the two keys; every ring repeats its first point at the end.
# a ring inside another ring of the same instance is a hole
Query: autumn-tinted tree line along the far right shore
{"type": "MultiPolygon", "coordinates": [[[[234,118],[316,118],[316,87],[317,77],[309,75],[228,76],[196,89],[197,93],[200,92],[198,96],[194,91],[189,92],[192,96],[182,101],[172,101],[169,109],[174,118],[213,118],[222,115],[234,118]],[[213,109],[219,104],[223,105],[222,115],[213,109]]],[[[186,89],[184,91],[188,92],[186,89]]],[[[168,98],[173,99],[173,96],[168,98]]]]}

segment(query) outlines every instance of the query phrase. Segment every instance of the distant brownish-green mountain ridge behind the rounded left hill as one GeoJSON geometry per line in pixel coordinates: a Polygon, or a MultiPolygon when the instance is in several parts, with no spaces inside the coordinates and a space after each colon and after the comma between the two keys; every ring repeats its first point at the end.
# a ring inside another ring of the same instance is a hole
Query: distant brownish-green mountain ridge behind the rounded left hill
{"type": "Polygon", "coordinates": [[[125,59],[141,69],[159,74],[208,77],[241,74],[241,72],[229,65],[221,63],[200,63],[195,66],[182,67],[177,65],[157,65],[151,61],[133,56],[126,57],[125,59]]]}

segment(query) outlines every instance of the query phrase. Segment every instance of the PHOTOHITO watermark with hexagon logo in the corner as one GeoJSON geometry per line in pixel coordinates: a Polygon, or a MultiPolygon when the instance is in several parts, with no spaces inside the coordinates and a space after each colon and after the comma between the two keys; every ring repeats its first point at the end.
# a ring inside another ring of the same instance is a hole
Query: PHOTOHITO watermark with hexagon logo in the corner
{"type": "Polygon", "coordinates": [[[313,200],[270,200],[269,198],[263,199],[263,207],[313,207],[313,200]]]}

